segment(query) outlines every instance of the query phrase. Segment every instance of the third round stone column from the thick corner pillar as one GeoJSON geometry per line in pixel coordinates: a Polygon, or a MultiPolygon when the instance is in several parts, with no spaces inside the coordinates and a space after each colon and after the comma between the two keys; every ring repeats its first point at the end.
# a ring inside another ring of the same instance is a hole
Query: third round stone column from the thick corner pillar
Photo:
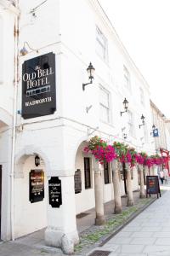
{"type": "Polygon", "coordinates": [[[131,179],[131,172],[130,172],[130,164],[126,163],[126,173],[127,173],[127,207],[132,207],[134,205],[133,201],[133,183],[131,179]]]}

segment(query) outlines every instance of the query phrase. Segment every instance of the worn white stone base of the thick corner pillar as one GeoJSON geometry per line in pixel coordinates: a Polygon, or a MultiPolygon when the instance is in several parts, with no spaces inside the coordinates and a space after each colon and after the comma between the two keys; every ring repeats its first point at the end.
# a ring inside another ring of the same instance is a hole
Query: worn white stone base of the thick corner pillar
{"type": "Polygon", "coordinates": [[[79,242],[77,230],[65,234],[62,230],[47,228],[45,242],[49,247],[59,247],[65,254],[74,253],[74,246],[79,242]]]}

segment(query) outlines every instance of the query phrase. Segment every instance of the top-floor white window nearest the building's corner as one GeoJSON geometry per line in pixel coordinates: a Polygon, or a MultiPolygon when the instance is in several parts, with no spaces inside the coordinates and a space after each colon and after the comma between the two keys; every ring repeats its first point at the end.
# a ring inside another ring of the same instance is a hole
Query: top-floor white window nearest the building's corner
{"type": "Polygon", "coordinates": [[[104,61],[108,61],[108,41],[98,26],[96,26],[96,52],[104,61]]]}

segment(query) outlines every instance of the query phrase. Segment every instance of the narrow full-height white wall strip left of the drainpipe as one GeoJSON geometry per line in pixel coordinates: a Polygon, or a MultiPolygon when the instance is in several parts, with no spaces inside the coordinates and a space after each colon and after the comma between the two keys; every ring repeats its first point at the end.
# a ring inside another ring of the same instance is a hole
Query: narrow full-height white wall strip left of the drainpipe
{"type": "MultiPolygon", "coordinates": [[[[5,1],[3,2],[5,3],[5,1]]],[[[11,156],[14,107],[14,25],[16,15],[0,3],[1,239],[11,239],[11,156]]]]}

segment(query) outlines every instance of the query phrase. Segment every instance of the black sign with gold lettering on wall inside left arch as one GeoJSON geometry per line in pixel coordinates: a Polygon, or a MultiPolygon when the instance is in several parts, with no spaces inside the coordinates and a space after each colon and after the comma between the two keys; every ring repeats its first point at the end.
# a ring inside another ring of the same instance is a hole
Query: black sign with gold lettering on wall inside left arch
{"type": "Polygon", "coordinates": [[[30,172],[30,195],[31,203],[42,201],[44,198],[44,172],[31,170],[30,172]]]}

